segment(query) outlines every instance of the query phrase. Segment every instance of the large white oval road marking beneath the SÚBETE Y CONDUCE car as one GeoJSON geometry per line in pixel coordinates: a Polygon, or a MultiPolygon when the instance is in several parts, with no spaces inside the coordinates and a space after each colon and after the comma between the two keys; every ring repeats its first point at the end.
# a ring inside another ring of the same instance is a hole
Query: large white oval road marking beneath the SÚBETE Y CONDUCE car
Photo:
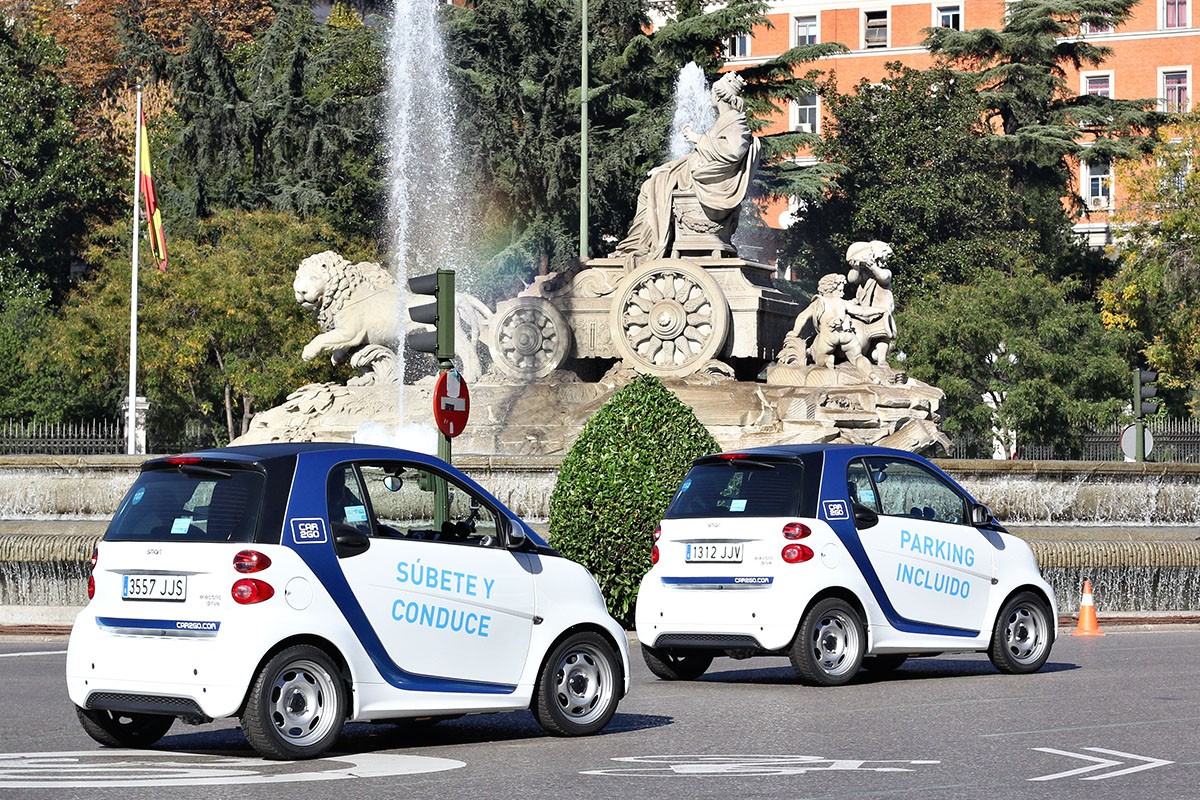
{"type": "Polygon", "coordinates": [[[299,766],[259,758],[144,750],[0,753],[0,788],[98,789],[346,781],[442,772],[460,769],[466,763],[426,756],[355,753],[304,762],[300,771],[290,771],[299,766]]]}

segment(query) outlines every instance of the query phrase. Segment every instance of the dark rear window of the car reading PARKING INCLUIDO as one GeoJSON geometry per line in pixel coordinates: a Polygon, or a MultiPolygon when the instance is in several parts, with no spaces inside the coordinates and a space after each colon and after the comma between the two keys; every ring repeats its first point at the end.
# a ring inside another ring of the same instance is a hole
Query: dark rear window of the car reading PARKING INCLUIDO
{"type": "Polygon", "coordinates": [[[697,464],[667,507],[667,519],[794,517],[804,491],[804,465],[751,459],[697,464]]]}

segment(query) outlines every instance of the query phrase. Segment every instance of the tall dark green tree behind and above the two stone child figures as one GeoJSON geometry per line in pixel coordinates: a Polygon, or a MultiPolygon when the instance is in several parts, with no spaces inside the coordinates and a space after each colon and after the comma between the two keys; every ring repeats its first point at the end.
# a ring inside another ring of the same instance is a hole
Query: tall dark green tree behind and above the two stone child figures
{"type": "Polygon", "coordinates": [[[811,287],[844,271],[846,248],[880,239],[902,306],[1033,257],[1008,167],[989,152],[972,76],[890,65],[878,84],[829,101],[817,155],[840,164],[829,196],[791,231],[794,272],[811,287]]]}

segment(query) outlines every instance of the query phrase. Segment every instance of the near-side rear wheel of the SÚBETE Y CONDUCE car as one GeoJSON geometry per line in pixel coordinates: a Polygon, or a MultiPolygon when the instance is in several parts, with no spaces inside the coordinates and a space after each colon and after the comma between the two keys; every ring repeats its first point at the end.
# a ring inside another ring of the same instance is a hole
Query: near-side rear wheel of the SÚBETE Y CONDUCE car
{"type": "Polygon", "coordinates": [[[346,706],[346,686],[332,660],[300,644],[278,652],[258,673],[241,727],[263,758],[316,758],[342,734],[346,706]]]}

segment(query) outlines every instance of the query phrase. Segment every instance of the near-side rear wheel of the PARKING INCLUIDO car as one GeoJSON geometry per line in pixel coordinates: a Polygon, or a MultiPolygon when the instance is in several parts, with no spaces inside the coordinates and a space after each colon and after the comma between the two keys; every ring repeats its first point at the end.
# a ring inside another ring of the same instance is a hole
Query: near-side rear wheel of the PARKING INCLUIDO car
{"type": "Polygon", "coordinates": [[[803,682],[840,686],[858,673],[864,649],[858,612],[844,600],[827,597],[800,620],[790,656],[803,682]]]}

